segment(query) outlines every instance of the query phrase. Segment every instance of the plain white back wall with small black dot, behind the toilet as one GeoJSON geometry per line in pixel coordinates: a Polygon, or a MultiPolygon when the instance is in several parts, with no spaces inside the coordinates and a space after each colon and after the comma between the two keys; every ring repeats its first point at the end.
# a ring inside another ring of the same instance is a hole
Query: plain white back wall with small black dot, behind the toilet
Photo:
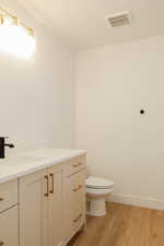
{"type": "Polygon", "coordinates": [[[164,37],[78,54],[77,134],[116,200],[164,208],[164,37]]]}

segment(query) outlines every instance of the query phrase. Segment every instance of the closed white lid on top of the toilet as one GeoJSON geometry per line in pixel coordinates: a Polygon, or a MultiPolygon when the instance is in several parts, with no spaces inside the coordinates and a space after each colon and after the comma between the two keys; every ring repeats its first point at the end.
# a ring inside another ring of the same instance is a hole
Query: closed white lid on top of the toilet
{"type": "Polygon", "coordinates": [[[99,177],[89,177],[85,180],[86,187],[90,188],[112,188],[114,187],[114,181],[106,179],[106,178],[99,178],[99,177]]]}

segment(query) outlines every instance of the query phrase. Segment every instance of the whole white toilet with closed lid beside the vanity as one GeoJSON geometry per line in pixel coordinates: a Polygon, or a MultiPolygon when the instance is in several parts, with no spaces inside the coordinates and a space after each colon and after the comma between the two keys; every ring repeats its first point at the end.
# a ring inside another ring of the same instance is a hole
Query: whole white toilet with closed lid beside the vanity
{"type": "Polygon", "coordinates": [[[114,181],[89,177],[86,185],[86,213],[92,216],[103,216],[106,214],[106,197],[114,191],[114,181]]]}

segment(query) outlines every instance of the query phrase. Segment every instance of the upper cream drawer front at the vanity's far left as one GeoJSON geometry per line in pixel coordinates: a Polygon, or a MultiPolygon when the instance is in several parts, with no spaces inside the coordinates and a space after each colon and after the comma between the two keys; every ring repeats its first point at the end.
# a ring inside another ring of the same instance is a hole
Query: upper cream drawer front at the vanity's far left
{"type": "Polygon", "coordinates": [[[0,212],[17,203],[17,179],[0,185],[0,212]]]}

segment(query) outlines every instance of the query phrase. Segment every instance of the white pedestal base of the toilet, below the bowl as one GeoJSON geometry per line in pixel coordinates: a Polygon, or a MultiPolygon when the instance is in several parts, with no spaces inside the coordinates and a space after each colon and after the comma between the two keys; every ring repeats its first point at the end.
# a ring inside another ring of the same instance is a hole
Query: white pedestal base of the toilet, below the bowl
{"type": "Polygon", "coordinates": [[[104,216],[106,214],[105,198],[87,199],[86,214],[91,216],[104,216]]]}

